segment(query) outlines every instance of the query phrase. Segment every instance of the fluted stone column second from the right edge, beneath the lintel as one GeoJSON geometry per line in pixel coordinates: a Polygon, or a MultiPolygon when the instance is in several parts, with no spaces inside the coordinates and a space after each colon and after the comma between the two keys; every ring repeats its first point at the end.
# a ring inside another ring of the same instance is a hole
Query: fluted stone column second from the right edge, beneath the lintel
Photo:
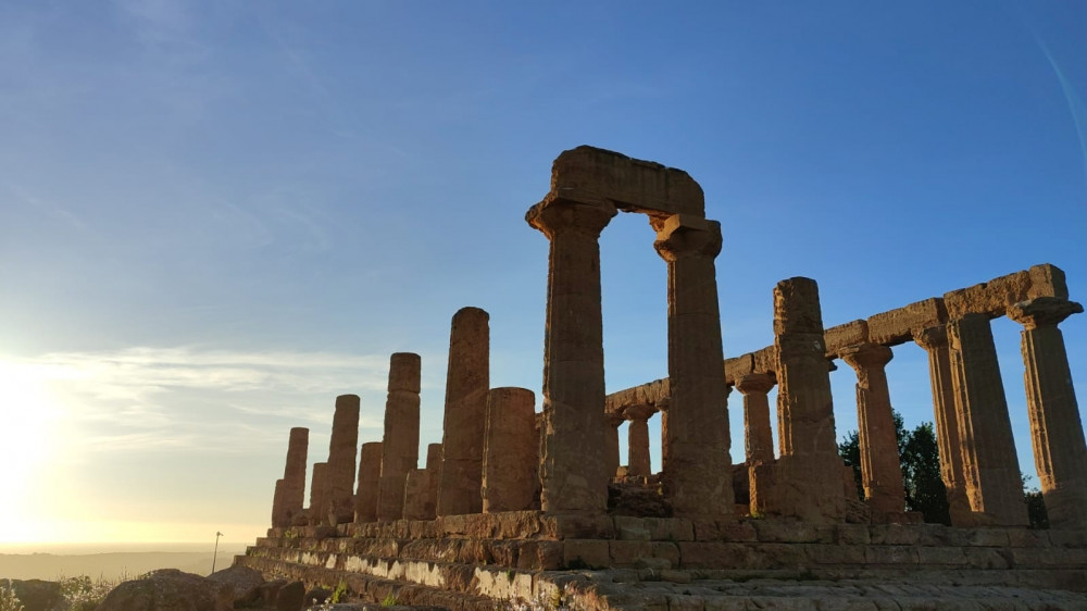
{"type": "Polygon", "coordinates": [[[983,523],[1027,524],[1023,482],[988,316],[966,314],[949,322],[948,339],[970,508],[983,523]]]}

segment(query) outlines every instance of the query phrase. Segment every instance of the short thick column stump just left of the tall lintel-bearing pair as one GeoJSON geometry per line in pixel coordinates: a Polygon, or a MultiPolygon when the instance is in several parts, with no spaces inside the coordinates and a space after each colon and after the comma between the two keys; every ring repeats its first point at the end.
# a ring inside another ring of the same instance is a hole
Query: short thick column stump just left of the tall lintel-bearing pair
{"type": "Polygon", "coordinates": [[[532,508],[536,491],[536,396],[526,388],[492,388],[487,394],[483,459],[483,511],[532,508]]]}

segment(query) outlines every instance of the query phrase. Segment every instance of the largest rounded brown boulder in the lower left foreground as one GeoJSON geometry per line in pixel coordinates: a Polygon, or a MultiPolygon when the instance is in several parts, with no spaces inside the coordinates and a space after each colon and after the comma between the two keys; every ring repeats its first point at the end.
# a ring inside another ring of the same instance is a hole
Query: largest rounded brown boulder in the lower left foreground
{"type": "Polygon", "coordinates": [[[124,582],[107,595],[99,611],[226,611],[234,608],[229,584],[183,573],[177,569],[152,571],[124,582]]]}

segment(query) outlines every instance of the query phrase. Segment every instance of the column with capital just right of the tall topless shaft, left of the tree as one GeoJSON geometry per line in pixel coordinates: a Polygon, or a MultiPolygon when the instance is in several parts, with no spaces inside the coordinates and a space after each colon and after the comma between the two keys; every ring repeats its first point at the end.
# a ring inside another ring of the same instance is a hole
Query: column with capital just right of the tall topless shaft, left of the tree
{"type": "Polygon", "coordinates": [[[905,512],[905,488],[886,372],[895,353],[886,346],[866,342],[848,346],[838,356],[857,372],[857,428],[864,498],[877,518],[901,518],[905,512]]]}

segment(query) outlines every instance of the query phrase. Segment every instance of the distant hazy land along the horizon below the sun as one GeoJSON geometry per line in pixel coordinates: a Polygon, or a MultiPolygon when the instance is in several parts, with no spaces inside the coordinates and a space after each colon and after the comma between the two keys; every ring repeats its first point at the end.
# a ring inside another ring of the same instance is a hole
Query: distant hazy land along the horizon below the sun
{"type": "MultiPolygon", "coordinates": [[[[35,546],[41,549],[42,546],[35,546]]],[[[216,569],[229,566],[245,545],[220,545],[216,569]]],[[[92,578],[135,577],[154,569],[211,573],[212,546],[191,544],[52,546],[47,552],[5,547],[0,553],[0,578],[49,579],[89,575],[92,578]]]]}

